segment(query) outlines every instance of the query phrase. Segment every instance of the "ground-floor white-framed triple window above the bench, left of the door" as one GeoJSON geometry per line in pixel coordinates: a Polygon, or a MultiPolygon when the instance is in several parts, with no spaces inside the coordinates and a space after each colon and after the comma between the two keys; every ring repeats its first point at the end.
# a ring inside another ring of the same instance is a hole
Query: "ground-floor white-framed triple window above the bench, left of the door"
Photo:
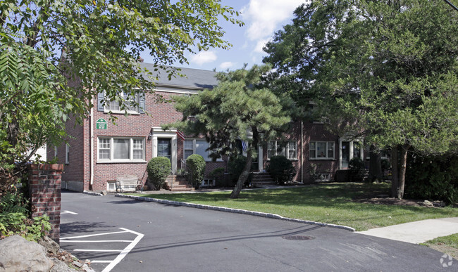
{"type": "Polygon", "coordinates": [[[99,162],[144,162],[144,138],[100,137],[99,162]]]}

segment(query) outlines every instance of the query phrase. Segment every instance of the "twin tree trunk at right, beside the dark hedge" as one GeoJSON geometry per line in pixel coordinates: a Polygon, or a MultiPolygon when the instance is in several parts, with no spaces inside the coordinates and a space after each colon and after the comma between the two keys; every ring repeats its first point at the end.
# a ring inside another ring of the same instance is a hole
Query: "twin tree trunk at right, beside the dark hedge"
{"type": "Polygon", "coordinates": [[[391,171],[392,171],[392,184],[391,194],[392,197],[402,200],[404,197],[404,185],[406,181],[407,170],[407,152],[410,145],[397,145],[391,149],[391,171]],[[398,159],[398,150],[400,150],[400,157],[398,159]]]}

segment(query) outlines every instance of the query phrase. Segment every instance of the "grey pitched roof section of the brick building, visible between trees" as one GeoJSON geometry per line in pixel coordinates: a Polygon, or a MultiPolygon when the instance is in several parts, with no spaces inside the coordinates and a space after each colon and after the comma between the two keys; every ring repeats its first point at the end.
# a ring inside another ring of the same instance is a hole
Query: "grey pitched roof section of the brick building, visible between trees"
{"type": "Polygon", "coordinates": [[[180,69],[180,74],[185,75],[185,77],[175,75],[175,77],[171,77],[169,80],[167,72],[162,69],[154,71],[157,67],[154,67],[154,64],[152,63],[140,63],[140,66],[142,68],[147,68],[154,76],[157,75],[159,80],[156,84],[161,86],[181,86],[190,89],[213,89],[213,87],[218,84],[218,80],[215,77],[217,73],[209,70],[171,67],[180,69]]]}

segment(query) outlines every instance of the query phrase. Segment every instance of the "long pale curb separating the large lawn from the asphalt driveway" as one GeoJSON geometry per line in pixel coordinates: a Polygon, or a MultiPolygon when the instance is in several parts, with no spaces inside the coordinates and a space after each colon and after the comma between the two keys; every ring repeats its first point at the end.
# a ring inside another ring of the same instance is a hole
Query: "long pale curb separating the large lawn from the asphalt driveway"
{"type": "Polygon", "coordinates": [[[201,204],[194,204],[194,203],[187,203],[187,202],[171,201],[171,200],[160,200],[160,199],[157,199],[157,198],[140,197],[140,196],[136,196],[136,195],[123,195],[123,194],[120,194],[120,193],[116,194],[115,197],[132,198],[134,200],[147,201],[147,202],[158,202],[158,203],[166,204],[166,205],[184,206],[184,207],[191,207],[191,208],[197,208],[197,209],[212,209],[214,211],[220,211],[220,212],[233,212],[233,213],[237,213],[237,214],[249,214],[249,215],[267,217],[267,218],[272,218],[272,219],[280,219],[280,220],[285,220],[285,221],[292,221],[292,222],[296,222],[296,223],[303,223],[303,224],[317,225],[317,226],[327,226],[327,227],[330,227],[330,228],[341,228],[341,229],[344,229],[344,230],[347,230],[347,231],[354,231],[354,228],[349,227],[349,226],[326,224],[326,223],[308,221],[308,220],[302,220],[302,219],[293,219],[293,218],[283,217],[283,216],[280,216],[278,214],[268,214],[268,213],[265,213],[265,212],[253,212],[253,211],[247,211],[246,209],[233,209],[233,208],[226,208],[226,207],[217,207],[217,206],[201,205],[201,204]]]}

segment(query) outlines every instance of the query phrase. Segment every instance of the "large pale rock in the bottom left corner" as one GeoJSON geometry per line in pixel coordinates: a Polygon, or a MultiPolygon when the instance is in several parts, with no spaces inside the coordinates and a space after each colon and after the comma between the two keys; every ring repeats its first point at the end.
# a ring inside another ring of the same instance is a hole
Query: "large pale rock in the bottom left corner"
{"type": "Polygon", "coordinates": [[[49,271],[53,262],[36,242],[19,235],[0,240],[0,268],[4,271],[49,271]]]}

